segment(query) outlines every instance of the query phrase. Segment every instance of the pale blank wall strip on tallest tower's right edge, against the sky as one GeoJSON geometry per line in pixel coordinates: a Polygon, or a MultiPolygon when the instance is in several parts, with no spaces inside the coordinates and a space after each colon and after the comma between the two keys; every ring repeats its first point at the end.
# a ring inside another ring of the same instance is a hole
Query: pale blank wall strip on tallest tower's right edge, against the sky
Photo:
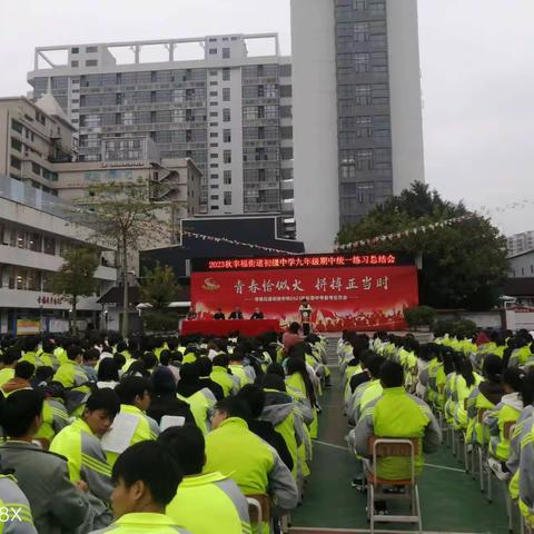
{"type": "Polygon", "coordinates": [[[417,0],[387,0],[393,194],[425,181],[417,0]]]}

